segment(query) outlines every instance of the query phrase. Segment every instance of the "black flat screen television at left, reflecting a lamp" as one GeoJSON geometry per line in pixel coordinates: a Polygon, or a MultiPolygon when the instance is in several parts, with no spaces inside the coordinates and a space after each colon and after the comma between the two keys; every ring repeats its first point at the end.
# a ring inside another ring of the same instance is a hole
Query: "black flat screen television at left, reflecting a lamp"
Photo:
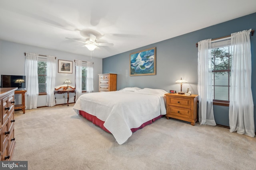
{"type": "Polygon", "coordinates": [[[26,88],[26,76],[1,75],[1,87],[17,87],[18,90],[26,88]]]}

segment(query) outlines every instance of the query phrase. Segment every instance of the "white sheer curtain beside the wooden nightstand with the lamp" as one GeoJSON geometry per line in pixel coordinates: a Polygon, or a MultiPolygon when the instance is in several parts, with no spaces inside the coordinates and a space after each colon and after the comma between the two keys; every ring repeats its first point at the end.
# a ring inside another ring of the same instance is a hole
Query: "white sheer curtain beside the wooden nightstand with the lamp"
{"type": "Polygon", "coordinates": [[[198,42],[198,121],[201,125],[215,126],[211,60],[211,39],[198,42]]]}

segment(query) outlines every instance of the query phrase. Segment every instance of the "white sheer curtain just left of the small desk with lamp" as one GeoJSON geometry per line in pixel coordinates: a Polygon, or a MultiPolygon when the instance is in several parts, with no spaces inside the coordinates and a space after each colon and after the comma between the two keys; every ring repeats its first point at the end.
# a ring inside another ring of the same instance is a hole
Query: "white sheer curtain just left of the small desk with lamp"
{"type": "Polygon", "coordinates": [[[46,57],[46,106],[55,106],[54,87],[56,79],[56,60],[54,56],[47,55],[46,57]]]}

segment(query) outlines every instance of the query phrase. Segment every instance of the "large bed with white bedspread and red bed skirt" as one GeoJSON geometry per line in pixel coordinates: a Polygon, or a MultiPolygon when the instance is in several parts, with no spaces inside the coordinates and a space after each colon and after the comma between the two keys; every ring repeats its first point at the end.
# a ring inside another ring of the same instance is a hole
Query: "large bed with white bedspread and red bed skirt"
{"type": "Polygon", "coordinates": [[[166,115],[166,93],[137,87],[87,93],[78,98],[74,111],[112,133],[122,145],[133,132],[166,115]]]}

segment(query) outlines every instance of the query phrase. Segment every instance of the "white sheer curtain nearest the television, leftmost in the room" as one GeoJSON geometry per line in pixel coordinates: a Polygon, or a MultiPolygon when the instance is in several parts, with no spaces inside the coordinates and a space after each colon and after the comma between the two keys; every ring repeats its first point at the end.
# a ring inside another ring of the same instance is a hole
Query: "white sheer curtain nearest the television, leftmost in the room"
{"type": "Polygon", "coordinates": [[[26,53],[25,75],[26,75],[26,109],[36,109],[38,99],[38,54],[26,53]]]}

